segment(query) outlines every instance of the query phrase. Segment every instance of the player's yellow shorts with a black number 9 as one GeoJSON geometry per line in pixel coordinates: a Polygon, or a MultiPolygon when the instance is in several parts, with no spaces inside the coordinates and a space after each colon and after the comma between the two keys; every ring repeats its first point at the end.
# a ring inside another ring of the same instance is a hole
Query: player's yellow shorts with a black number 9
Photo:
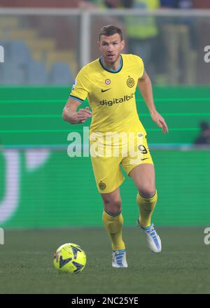
{"type": "MultiPolygon", "coordinates": [[[[90,146],[92,146],[91,141],[90,146]]],[[[94,178],[99,193],[111,193],[123,183],[125,177],[123,176],[120,165],[123,167],[127,175],[129,175],[131,170],[138,165],[153,165],[151,153],[146,141],[146,134],[141,134],[140,138],[135,138],[134,146],[135,151],[127,151],[126,153],[119,151],[120,155],[116,155],[116,157],[113,155],[113,147],[111,157],[104,155],[104,152],[103,155],[95,155],[94,153],[95,157],[94,155],[91,155],[94,178]]],[[[107,146],[104,146],[104,148],[106,149],[107,146]]]]}

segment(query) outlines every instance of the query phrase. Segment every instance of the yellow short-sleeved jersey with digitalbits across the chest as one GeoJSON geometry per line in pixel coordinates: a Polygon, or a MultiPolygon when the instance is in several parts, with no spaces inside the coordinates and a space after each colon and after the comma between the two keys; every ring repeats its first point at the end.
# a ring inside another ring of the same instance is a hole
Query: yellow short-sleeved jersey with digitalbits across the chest
{"type": "Polygon", "coordinates": [[[70,97],[86,98],[92,109],[93,132],[145,132],[137,113],[135,92],[144,74],[144,62],[137,55],[120,55],[120,67],[111,71],[102,57],[87,64],[76,76],[70,97]]]}

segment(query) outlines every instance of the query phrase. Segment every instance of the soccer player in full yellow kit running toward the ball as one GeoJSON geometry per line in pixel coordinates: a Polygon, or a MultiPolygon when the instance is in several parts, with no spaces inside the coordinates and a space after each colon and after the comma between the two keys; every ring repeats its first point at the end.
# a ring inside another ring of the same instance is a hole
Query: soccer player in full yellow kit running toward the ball
{"type": "Polygon", "coordinates": [[[108,25],[99,33],[99,50],[102,57],[84,66],[71,90],[63,110],[63,118],[71,124],[85,123],[92,117],[90,125],[90,149],[97,143],[100,150],[91,155],[97,188],[104,202],[103,223],[111,239],[113,267],[127,267],[125,243],[123,241],[123,215],[120,185],[124,181],[120,165],[137,187],[139,218],[137,225],[145,233],[151,251],[160,253],[160,237],[151,223],[158,199],[155,188],[155,170],[146,141],[146,131],[139,120],[135,100],[137,85],[148,106],[151,118],[162,132],[168,132],[164,118],[155,109],[151,80],[144,70],[144,63],[137,55],[121,52],[125,46],[121,29],[108,25]],[[85,99],[89,107],[79,109],[85,99]],[[134,133],[130,141],[125,134],[134,133]],[[120,134],[122,138],[115,137],[120,134]],[[104,137],[113,137],[111,143],[104,137]],[[124,152],[125,144],[134,144],[137,151],[124,152]],[[104,148],[122,150],[119,155],[104,155],[104,148]],[[138,152],[139,151],[139,152],[138,152]],[[125,155],[125,153],[127,153],[125,155]],[[141,154],[139,156],[139,153],[141,154]]]}

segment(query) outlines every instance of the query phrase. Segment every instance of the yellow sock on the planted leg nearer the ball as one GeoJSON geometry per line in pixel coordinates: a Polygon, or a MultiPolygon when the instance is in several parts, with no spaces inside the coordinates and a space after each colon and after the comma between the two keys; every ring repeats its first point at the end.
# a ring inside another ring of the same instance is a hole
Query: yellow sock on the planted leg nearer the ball
{"type": "Polygon", "coordinates": [[[123,215],[120,213],[118,216],[111,216],[104,211],[102,220],[106,232],[111,239],[112,249],[125,249],[125,243],[122,237],[123,215]]]}

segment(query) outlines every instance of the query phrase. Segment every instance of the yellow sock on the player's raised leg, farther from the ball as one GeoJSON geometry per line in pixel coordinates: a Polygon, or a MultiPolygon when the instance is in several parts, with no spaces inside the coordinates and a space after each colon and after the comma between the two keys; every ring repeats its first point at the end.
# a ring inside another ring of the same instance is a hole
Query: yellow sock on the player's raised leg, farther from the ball
{"type": "Polygon", "coordinates": [[[139,204],[139,211],[140,211],[139,223],[141,227],[146,228],[149,225],[151,225],[151,218],[157,200],[158,200],[157,190],[155,192],[155,195],[153,195],[153,197],[146,198],[146,197],[141,197],[139,193],[137,194],[137,202],[139,204]]]}

